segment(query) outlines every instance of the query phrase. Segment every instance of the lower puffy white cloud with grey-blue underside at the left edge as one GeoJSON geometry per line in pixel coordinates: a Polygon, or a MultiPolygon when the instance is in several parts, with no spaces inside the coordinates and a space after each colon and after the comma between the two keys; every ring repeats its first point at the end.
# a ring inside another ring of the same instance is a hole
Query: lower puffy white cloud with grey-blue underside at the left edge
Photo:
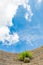
{"type": "Polygon", "coordinates": [[[9,29],[4,26],[0,28],[0,41],[3,45],[12,45],[19,41],[19,36],[17,33],[10,34],[9,29]]]}

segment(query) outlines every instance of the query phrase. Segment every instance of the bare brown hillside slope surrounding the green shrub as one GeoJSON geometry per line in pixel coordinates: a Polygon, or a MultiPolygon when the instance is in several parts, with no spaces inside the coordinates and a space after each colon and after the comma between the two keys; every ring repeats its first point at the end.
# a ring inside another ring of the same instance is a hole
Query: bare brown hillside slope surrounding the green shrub
{"type": "Polygon", "coordinates": [[[18,54],[0,51],[0,65],[43,65],[43,47],[31,51],[33,59],[30,63],[18,60],[18,54]]]}

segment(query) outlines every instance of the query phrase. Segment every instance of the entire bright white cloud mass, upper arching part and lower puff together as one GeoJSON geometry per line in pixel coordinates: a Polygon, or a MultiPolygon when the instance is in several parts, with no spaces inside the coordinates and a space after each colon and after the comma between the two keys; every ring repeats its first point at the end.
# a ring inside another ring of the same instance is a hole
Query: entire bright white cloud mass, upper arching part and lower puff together
{"type": "Polygon", "coordinates": [[[25,18],[31,20],[33,16],[28,0],[0,0],[0,41],[4,45],[12,45],[19,41],[17,33],[9,34],[8,26],[12,26],[12,17],[16,15],[19,5],[26,9],[25,18]]]}

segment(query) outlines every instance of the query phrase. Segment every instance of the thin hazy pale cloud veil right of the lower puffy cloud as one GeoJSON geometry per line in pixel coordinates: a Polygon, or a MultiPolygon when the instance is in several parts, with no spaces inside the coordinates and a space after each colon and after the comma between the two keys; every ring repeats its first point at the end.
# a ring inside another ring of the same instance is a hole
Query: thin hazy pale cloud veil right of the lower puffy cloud
{"type": "Polygon", "coordinates": [[[26,43],[31,46],[34,46],[34,44],[38,45],[39,43],[37,43],[37,41],[39,42],[39,40],[41,39],[43,40],[43,35],[29,34],[28,31],[19,32],[19,34],[20,34],[20,40],[26,41],[26,43]]]}

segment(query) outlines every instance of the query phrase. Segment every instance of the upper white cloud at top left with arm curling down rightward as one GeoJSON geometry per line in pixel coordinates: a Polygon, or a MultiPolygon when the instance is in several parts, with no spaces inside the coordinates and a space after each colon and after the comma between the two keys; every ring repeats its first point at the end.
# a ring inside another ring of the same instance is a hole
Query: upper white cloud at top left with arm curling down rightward
{"type": "Polygon", "coordinates": [[[16,15],[16,11],[22,5],[26,10],[25,18],[30,20],[33,13],[28,0],[0,0],[0,25],[13,25],[12,17],[16,15]]]}

